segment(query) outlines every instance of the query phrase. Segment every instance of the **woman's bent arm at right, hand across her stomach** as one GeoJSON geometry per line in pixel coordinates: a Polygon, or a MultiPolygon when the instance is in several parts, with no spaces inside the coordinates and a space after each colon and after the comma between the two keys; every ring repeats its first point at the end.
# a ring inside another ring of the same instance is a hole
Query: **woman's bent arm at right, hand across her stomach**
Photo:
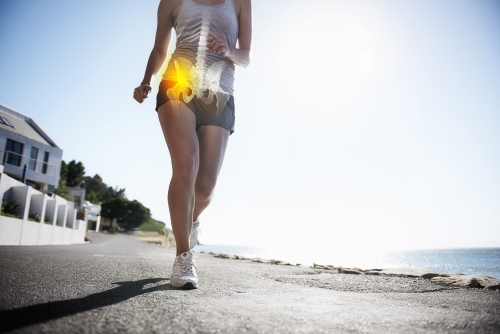
{"type": "Polygon", "coordinates": [[[208,48],[214,53],[229,58],[236,65],[247,67],[250,64],[250,46],[252,44],[252,3],[251,0],[239,0],[238,48],[227,45],[219,36],[207,37],[208,48]]]}

